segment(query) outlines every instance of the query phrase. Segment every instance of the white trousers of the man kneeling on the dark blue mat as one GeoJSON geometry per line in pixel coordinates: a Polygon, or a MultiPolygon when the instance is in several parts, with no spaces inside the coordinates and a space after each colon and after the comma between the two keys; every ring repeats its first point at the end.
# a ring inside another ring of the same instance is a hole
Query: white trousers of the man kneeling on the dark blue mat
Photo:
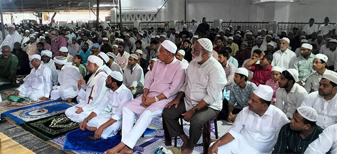
{"type": "MultiPolygon", "coordinates": [[[[89,127],[96,127],[97,129],[100,128],[104,123],[111,119],[110,113],[106,114],[99,114],[98,116],[91,119],[87,125],[89,127]]],[[[121,120],[113,123],[109,127],[105,128],[102,132],[101,138],[107,139],[111,136],[115,136],[117,132],[121,129],[121,120]]]]}

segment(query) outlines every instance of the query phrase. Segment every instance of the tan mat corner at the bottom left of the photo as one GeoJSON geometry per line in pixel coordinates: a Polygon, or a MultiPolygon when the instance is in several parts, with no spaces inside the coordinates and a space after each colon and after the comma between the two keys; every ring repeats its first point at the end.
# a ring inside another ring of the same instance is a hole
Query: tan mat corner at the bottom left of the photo
{"type": "Polygon", "coordinates": [[[15,142],[5,134],[0,133],[0,153],[34,153],[33,151],[25,148],[19,143],[15,142]]]}

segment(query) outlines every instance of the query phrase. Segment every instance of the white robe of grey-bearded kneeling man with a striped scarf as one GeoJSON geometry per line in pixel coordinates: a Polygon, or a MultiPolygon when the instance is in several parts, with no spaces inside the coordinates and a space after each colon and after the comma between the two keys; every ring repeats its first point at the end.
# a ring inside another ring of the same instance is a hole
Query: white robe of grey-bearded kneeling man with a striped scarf
{"type": "Polygon", "coordinates": [[[66,116],[74,122],[81,123],[93,109],[101,102],[104,94],[106,92],[105,80],[107,79],[107,74],[101,70],[99,67],[96,73],[93,73],[88,81],[87,85],[82,85],[80,90],[77,90],[78,104],[66,109],[66,116]],[[91,83],[93,82],[93,83],[91,83]],[[90,86],[89,86],[90,85],[90,86]],[[86,89],[86,90],[85,90],[86,89]],[[82,107],[83,112],[77,114],[76,106],[82,107]]]}

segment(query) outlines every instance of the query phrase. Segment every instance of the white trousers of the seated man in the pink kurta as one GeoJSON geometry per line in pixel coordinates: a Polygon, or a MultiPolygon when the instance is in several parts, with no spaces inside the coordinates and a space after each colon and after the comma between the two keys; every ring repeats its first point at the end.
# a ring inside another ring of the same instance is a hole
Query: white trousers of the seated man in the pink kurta
{"type": "Polygon", "coordinates": [[[135,124],[135,113],[129,108],[123,106],[122,108],[122,139],[121,141],[130,148],[134,148],[137,140],[145,132],[146,128],[150,125],[153,118],[158,117],[163,108],[157,109],[154,112],[145,110],[139,117],[135,124]],[[134,126],[135,124],[135,126],[134,126]]]}

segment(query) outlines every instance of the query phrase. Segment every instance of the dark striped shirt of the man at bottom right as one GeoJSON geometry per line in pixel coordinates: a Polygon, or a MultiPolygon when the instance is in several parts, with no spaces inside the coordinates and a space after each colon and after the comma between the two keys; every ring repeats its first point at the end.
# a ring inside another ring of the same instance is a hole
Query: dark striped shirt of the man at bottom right
{"type": "Polygon", "coordinates": [[[316,126],[313,133],[306,139],[302,139],[299,131],[290,129],[290,123],[285,124],[278,135],[277,142],[272,153],[304,153],[309,144],[313,142],[323,129],[316,126]]]}

